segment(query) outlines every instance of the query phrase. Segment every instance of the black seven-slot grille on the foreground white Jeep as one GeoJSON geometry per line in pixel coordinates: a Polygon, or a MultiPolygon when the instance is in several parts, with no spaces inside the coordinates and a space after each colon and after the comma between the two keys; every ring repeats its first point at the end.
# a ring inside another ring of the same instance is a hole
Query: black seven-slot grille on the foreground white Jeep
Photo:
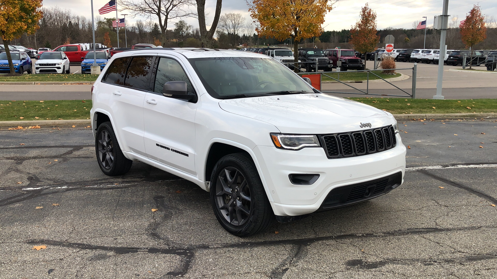
{"type": "Polygon", "coordinates": [[[397,145],[392,125],[364,131],[322,135],[328,158],[344,158],[377,153],[397,145]]]}

